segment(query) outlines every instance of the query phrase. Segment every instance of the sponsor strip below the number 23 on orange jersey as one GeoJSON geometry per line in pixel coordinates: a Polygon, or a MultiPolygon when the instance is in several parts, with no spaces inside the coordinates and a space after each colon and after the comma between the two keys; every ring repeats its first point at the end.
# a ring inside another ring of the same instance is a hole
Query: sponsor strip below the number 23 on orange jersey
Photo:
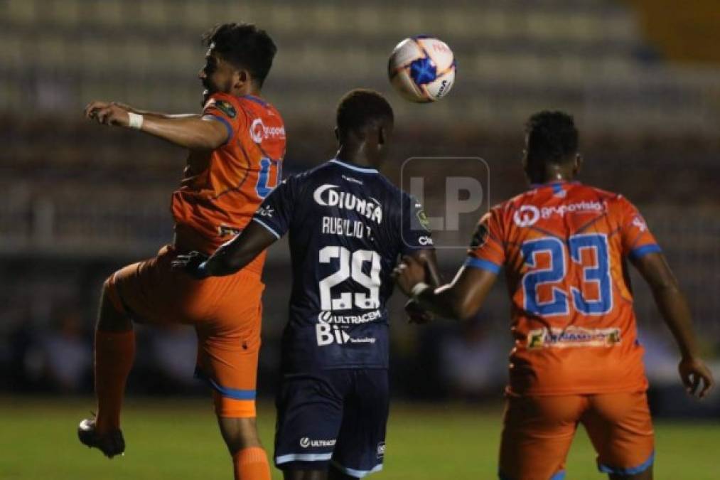
{"type": "Polygon", "coordinates": [[[582,326],[555,327],[531,330],[528,349],[567,347],[613,347],[620,345],[620,329],[586,329],[582,326]]]}

